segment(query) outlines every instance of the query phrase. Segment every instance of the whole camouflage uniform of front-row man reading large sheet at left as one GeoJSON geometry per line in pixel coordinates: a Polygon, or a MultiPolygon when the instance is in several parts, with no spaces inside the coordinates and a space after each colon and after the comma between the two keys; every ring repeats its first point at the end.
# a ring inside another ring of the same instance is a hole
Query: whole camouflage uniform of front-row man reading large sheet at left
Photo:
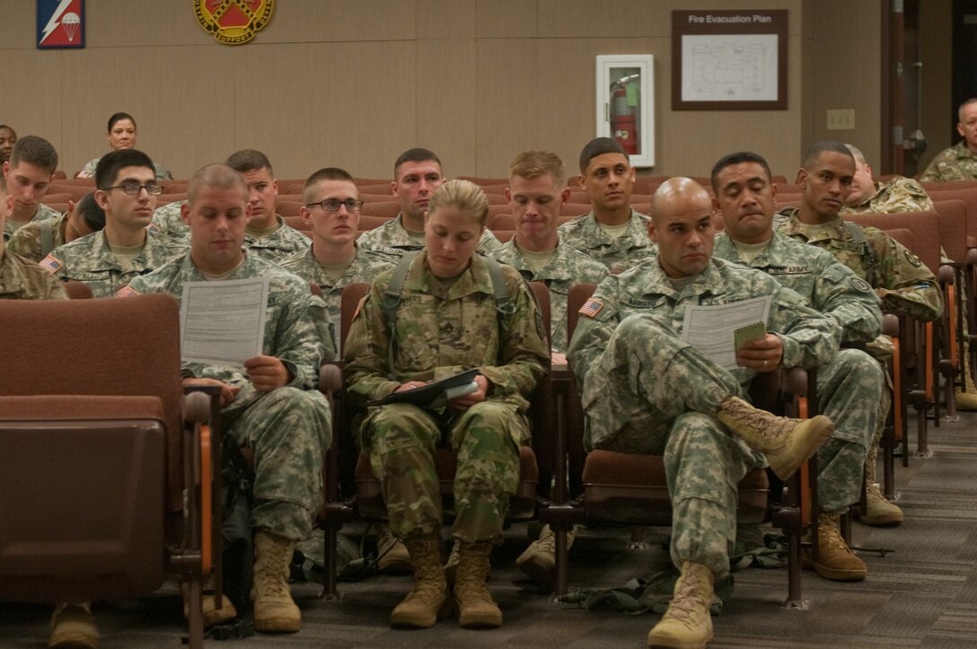
{"type": "MultiPolygon", "coordinates": [[[[316,389],[319,364],[331,353],[316,322],[323,304],[301,279],[248,254],[228,279],[270,277],[264,354],[276,356],[292,381],[270,392],[256,390],[243,367],[183,364],[185,378],[217,379],[240,387],[221,410],[224,429],[254,451],[253,527],[298,540],[309,534],[322,505],[322,459],[331,442],[329,405],[316,389]]],[[[205,281],[190,259],[178,257],[133,279],[134,293],[170,293],[179,300],[186,282],[205,281]]],[[[244,360],[244,359],[242,359],[244,360]]]]}

